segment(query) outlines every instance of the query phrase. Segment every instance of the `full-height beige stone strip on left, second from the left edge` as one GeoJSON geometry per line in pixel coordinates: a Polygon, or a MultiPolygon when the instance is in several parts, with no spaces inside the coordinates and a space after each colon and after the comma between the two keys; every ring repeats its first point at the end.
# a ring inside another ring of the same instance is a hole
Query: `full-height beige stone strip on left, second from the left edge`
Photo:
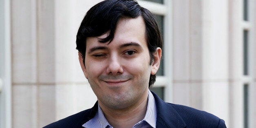
{"type": "Polygon", "coordinates": [[[55,121],[55,3],[37,0],[38,127],[55,121]]]}

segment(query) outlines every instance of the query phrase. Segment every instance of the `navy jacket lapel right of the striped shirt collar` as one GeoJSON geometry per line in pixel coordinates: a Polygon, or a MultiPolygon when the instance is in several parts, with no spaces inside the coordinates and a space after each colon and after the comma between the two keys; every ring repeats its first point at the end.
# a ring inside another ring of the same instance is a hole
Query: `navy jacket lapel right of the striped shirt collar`
{"type": "Polygon", "coordinates": [[[186,124],[172,104],[164,102],[155,93],[152,94],[157,106],[157,128],[184,128],[186,124]]]}

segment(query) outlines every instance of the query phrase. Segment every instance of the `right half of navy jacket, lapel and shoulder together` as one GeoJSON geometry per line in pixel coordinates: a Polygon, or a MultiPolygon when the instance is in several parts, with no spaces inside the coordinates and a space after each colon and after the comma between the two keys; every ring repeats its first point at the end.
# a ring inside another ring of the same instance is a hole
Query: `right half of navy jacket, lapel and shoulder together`
{"type": "Polygon", "coordinates": [[[159,127],[226,128],[225,121],[202,110],[166,103],[155,93],[159,127]]]}

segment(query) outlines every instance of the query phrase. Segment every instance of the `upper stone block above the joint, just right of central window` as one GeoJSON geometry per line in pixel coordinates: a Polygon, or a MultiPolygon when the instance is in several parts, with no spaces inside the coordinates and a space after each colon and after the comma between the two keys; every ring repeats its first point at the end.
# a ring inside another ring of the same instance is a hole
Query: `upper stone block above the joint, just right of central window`
{"type": "Polygon", "coordinates": [[[185,0],[174,0],[173,5],[173,79],[188,80],[189,5],[185,0]]]}

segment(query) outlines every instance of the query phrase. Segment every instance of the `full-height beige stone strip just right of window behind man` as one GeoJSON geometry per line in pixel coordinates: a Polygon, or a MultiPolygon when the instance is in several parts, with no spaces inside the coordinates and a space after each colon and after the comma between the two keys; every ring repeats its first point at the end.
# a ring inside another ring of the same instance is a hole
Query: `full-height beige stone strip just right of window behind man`
{"type": "Polygon", "coordinates": [[[173,102],[190,106],[190,4],[173,0],[173,102]]]}

